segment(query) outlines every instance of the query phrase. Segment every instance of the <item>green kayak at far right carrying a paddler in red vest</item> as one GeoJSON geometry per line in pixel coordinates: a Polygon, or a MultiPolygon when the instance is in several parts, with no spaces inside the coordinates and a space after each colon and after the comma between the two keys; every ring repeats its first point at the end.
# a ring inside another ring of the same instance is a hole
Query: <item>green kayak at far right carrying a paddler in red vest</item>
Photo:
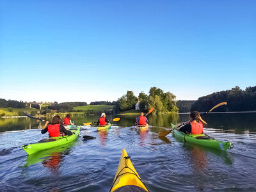
{"type": "Polygon", "coordinates": [[[182,140],[188,143],[195,143],[197,145],[202,145],[205,147],[217,148],[224,151],[234,147],[234,145],[230,142],[215,140],[207,134],[185,134],[184,132],[180,132],[174,129],[175,127],[176,126],[172,124],[173,134],[178,140],[182,140]]]}

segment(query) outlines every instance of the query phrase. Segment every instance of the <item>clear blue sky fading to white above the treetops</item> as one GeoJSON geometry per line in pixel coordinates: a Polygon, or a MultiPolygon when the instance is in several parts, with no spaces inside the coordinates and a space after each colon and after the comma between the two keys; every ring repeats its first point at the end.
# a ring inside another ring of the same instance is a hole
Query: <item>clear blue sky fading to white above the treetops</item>
{"type": "Polygon", "coordinates": [[[256,85],[256,1],[0,0],[0,98],[177,99],[256,85]]]}

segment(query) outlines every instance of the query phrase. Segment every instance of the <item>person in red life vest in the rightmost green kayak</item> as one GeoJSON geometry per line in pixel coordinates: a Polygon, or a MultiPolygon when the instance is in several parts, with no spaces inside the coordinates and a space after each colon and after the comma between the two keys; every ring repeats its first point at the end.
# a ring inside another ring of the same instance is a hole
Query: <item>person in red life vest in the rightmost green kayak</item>
{"type": "Polygon", "coordinates": [[[186,134],[203,134],[203,123],[207,124],[204,120],[202,120],[198,111],[193,111],[190,113],[189,124],[180,127],[179,131],[186,134]]]}

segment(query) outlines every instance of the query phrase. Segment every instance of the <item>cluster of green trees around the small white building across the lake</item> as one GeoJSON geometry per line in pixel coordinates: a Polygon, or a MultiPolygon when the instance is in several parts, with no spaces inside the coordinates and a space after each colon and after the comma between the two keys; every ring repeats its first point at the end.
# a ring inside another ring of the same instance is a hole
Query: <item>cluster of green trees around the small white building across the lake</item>
{"type": "Polygon", "coordinates": [[[138,97],[132,91],[127,91],[120,97],[115,104],[115,113],[135,109],[137,102],[140,103],[140,111],[147,112],[148,109],[154,108],[154,113],[177,113],[176,96],[171,92],[163,92],[160,88],[150,88],[148,95],[141,92],[138,97]]]}

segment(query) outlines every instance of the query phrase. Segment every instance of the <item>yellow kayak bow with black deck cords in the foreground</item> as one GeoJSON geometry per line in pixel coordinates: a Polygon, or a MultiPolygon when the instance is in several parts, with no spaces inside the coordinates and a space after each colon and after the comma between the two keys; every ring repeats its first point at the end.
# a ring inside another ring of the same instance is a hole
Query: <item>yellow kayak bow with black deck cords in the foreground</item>
{"type": "Polygon", "coordinates": [[[131,157],[127,155],[126,150],[123,149],[110,192],[148,191],[132,165],[130,158],[131,157]]]}

